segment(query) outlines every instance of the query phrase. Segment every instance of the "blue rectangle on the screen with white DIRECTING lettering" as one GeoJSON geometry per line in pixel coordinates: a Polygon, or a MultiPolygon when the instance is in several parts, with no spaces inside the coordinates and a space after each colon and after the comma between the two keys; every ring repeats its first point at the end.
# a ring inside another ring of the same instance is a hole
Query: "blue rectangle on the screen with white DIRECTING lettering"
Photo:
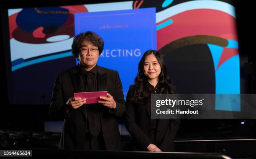
{"type": "Polygon", "coordinates": [[[143,53],[156,50],[156,9],[75,13],[74,22],[75,35],[93,31],[102,37],[97,64],[119,72],[126,97],[143,53]]]}

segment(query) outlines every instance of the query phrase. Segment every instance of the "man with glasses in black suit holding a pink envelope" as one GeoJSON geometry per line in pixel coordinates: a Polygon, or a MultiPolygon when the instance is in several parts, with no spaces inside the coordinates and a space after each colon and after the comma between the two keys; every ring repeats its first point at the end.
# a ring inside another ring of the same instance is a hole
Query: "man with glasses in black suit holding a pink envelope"
{"type": "Polygon", "coordinates": [[[104,42],[94,32],[74,37],[72,53],[79,64],[58,74],[49,115],[64,119],[60,149],[122,150],[116,117],[125,112],[118,72],[97,65],[104,42]],[[97,104],[74,98],[74,92],[108,91],[97,104]]]}

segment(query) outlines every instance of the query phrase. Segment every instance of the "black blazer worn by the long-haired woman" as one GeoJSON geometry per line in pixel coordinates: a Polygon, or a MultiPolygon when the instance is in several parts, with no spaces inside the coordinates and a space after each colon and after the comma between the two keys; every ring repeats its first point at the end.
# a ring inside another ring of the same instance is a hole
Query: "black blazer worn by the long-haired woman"
{"type": "MultiPolygon", "coordinates": [[[[172,89],[174,90],[174,89],[172,89]]],[[[126,97],[125,127],[131,134],[130,149],[147,151],[151,142],[151,116],[146,105],[134,103],[135,86],[131,85],[126,97]]],[[[174,92],[176,92],[174,90],[174,92]]],[[[159,119],[156,131],[156,146],[164,152],[174,151],[174,137],[179,129],[180,119],[159,119]]]]}

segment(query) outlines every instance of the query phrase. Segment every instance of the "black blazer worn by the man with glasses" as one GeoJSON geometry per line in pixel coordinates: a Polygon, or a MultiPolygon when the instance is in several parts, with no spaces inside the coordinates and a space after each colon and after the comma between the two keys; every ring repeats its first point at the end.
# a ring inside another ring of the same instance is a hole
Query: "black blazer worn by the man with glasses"
{"type": "MultiPolygon", "coordinates": [[[[108,91],[116,102],[116,110],[102,106],[100,112],[102,134],[107,150],[122,150],[120,132],[116,117],[125,113],[123,88],[118,72],[104,67],[97,67],[97,91],[108,91]]],[[[51,98],[49,115],[54,119],[64,119],[60,149],[83,149],[87,132],[85,106],[66,112],[66,102],[74,97],[74,92],[83,92],[79,65],[58,74],[51,98]]]]}

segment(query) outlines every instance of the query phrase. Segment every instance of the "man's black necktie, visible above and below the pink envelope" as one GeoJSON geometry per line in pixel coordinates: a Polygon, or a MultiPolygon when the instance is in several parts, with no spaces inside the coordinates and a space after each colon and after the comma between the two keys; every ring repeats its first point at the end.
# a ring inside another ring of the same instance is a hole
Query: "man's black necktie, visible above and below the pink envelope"
{"type": "MultiPolygon", "coordinates": [[[[86,88],[87,92],[94,92],[93,82],[91,79],[92,73],[87,72],[86,75],[86,88]]],[[[87,119],[89,124],[90,134],[94,137],[97,137],[100,133],[100,110],[97,104],[87,104],[86,105],[87,111],[87,119]]]]}

